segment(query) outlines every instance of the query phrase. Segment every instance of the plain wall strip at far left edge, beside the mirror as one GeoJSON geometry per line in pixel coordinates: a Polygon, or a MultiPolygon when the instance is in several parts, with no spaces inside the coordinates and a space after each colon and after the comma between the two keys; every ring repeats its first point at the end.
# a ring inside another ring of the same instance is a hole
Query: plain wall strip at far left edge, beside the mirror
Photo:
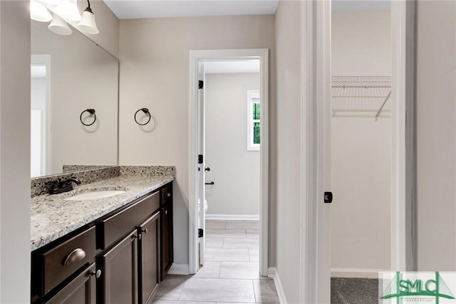
{"type": "Polygon", "coordinates": [[[30,302],[30,11],[0,1],[0,303],[30,302]]]}

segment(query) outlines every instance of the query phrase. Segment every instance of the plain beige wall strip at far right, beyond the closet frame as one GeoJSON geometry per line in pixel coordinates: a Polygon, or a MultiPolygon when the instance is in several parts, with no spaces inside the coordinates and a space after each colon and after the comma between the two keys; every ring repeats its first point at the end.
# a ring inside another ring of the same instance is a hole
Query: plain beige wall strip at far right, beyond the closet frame
{"type": "Polygon", "coordinates": [[[455,6],[418,1],[419,270],[456,270],[455,6]]]}

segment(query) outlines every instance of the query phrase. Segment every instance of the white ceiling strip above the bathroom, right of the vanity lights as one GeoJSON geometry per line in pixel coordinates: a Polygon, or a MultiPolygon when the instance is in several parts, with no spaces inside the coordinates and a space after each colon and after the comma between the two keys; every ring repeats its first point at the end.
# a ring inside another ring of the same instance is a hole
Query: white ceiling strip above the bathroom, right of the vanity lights
{"type": "Polygon", "coordinates": [[[103,0],[119,19],[275,14],[279,0],[103,0]]]}

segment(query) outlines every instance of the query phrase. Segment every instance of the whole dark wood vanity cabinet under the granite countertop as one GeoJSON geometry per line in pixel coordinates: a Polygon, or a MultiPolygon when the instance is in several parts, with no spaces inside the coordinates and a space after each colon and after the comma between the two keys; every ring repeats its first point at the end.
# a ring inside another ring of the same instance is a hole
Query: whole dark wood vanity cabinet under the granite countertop
{"type": "Polygon", "coordinates": [[[172,260],[168,183],[33,251],[31,303],[149,303],[172,260]]]}

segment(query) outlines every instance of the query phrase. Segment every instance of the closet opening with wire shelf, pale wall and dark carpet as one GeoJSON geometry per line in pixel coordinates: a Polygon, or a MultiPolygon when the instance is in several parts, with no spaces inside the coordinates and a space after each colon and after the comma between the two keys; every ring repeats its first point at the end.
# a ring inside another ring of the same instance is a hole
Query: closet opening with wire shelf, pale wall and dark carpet
{"type": "Polygon", "coordinates": [[[368,4],[331,7],[331,303],[376,302],[391,265],[390,3],[368,4]]]}

